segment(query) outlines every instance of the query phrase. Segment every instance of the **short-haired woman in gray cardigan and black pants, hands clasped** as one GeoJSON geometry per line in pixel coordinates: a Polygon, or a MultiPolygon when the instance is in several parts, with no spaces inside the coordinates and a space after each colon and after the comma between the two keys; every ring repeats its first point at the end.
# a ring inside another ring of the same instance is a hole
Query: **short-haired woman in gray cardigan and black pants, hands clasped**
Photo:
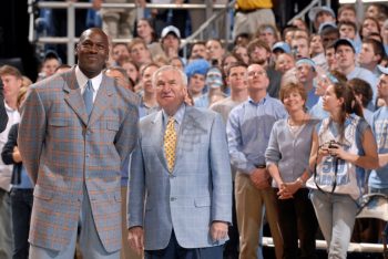
{"type": "Polygon", "coordinates": [[[318,121],[305,111],[307,93],[302,84],[288,83],[279,95],[289,116],[275,123],[265,157],[278,197],[283,258],[315,258],[318,224],[305,183],[309,178],[312,135],[318,121]]]}

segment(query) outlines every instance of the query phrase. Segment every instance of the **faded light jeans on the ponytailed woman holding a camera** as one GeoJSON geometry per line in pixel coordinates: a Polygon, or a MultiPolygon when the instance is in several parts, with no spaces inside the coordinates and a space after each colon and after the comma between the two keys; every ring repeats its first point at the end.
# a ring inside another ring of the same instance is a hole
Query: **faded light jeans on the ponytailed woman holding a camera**
{"type": "Polygon", "coordinates": [[[310,198],[321,232],[327,242],[328,258],[346,258],[358,210],[349,195],[312,190],[310,198]]]}

